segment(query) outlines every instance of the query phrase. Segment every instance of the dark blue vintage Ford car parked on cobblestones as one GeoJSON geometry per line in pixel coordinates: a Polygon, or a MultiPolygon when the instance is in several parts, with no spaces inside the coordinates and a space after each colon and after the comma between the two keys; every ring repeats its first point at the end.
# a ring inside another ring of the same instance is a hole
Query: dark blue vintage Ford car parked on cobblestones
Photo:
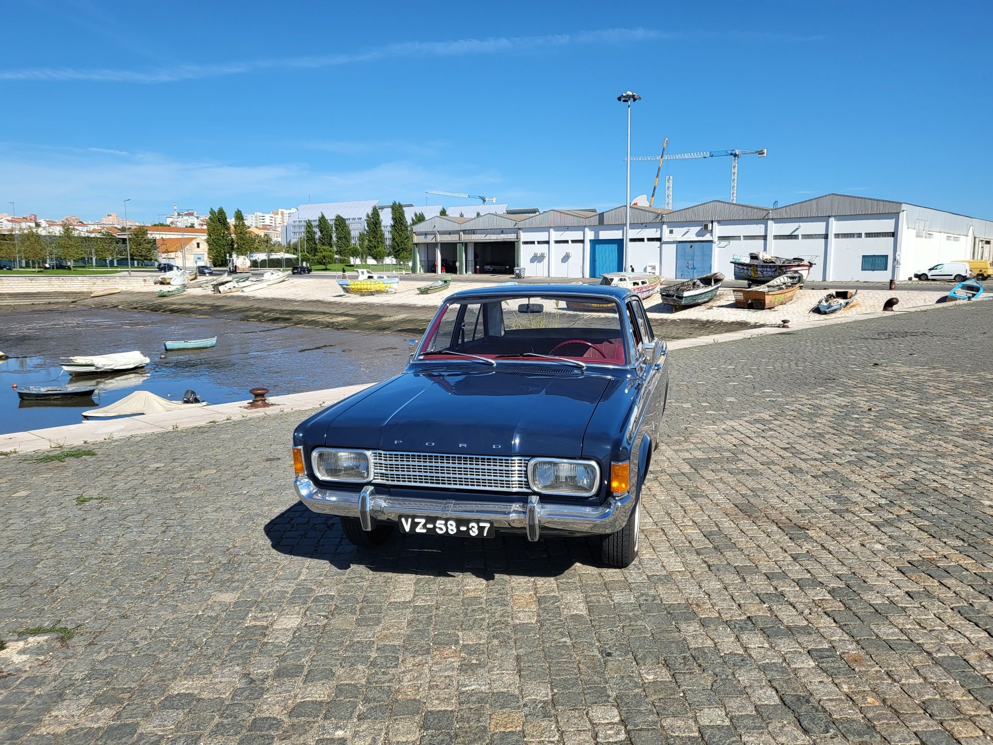
{"type": "Polygon", "coordinates": [[[403,373],[296,428],[294,486],[356,545],[397,527],[473,540],[592,533],[605,563],[627,566],[665,360],[629,289],[453,293],[403,373]]]}

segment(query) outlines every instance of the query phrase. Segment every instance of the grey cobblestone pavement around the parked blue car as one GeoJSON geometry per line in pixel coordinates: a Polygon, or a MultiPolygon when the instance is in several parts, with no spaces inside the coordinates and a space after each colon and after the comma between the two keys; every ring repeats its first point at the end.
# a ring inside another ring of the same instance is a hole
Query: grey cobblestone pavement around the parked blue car
{"type": "Polygon", "coordinates": [[[0,742],[990,742],[991,312],[673,353],[625,570],[356,550],[299,416],[0,459],[0,742]]]}

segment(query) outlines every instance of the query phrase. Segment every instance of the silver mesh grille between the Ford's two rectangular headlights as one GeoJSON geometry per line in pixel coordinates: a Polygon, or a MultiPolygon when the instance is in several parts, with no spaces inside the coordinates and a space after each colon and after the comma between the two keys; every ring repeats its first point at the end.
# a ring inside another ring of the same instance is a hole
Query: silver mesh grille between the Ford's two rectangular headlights
{"type": "Polygon", "coordinates": [[[526,492],[527,459],[373,450],[372,482],[399,487],[526,492]]]}

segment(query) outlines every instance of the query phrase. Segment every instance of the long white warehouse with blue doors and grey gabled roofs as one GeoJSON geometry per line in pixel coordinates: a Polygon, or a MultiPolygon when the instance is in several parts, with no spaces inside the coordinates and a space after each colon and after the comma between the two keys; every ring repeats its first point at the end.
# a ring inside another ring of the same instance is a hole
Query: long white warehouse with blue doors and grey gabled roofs
{"type": "MultiPolygon", "coordinates": [[[[475,208],[466,208],[472,211],[475,208]]],[[[435,215],[414,225],[414,271],[599,277],[630,270],[688,279],[749,253],[810,259],[823,281],[908,279],[941,261],[990,259],[993,221],[829,194],[779,208],[713,201],[669,211],[624,206],[435,215]]]]}

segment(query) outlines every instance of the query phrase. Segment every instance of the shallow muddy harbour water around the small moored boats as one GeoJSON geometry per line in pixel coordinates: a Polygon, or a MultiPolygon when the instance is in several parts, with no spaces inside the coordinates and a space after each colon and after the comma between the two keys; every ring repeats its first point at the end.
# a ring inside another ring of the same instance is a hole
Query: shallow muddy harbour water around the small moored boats
{"type": "Polygon", "coordinates": [[[135,390],[181,399],[189,388],[225,403],[249,398],[256,385],[278,395],[373,382],[403,369],[407,338],[81,306],[3,312],[0,351],[10,358],[0,361],[0,433],[75,424],[82,411],[135,390]],[[213,349],[166,353],[162,347],[166,339],[213,336],[213,349]],[[59,366],[62,357],[132,350],[151,359],[144,371],[70,378],[59,366]],[[95,382],[97,392],[54,405],[21,401],[12,388],[70,381],[95,382]]]}

